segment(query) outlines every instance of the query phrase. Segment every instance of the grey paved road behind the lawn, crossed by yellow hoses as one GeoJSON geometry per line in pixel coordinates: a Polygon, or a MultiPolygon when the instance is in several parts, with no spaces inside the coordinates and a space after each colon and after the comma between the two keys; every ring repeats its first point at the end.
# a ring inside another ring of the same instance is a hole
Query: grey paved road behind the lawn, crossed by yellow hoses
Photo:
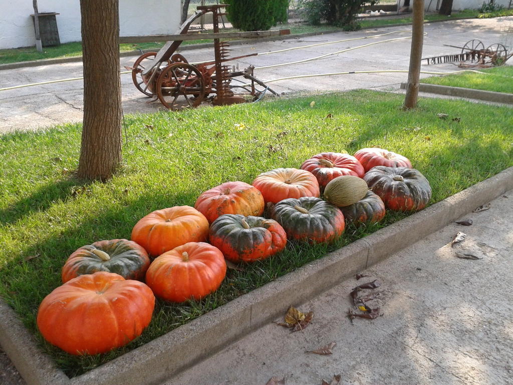
{"type": "MultiPolygon", "coordinates": [[[[232,46],[232,56],[247,53],[264,53],[290,47],[299,47],[328,41],[338,41],[354,37],[384,34],[410,27],[380,28],[358,32],[338,32],[325,35],[302,37],[284,41],[232,46]]],[[[423,56],[433,56],[458,52],[458,49],[444,47],[443,44],[462,46],[467,41],[478,38],[485,46],[493,43],[511,44],[513,40],[513,17],[490,20],[463,20],[446,23],[432,23],[425,26],[423,56]]],[[[287,63],[310,57],[340,51],[350,47],[405,37],[409,32],[394,33],[377,38],[348,41],[337,44],[298,49],[272,55],[252,56],[238,61],[240,68],[249,64],[257,67],[287,63]]],[[[256,70],[262,80],[283,78],[290,75],[331,73],[362,70],[407,70],[409,63],[410,40],[396,40],[347,51],[326,59],[256,70]]],[[[213,50],[198,49],[184,51],[189,62],[212,60],[213,50]]],[[[136,57],[124,57],[121,68],[132,65],[136,57]]],[[[233,63],[237,64],[237,63],[233,63]]],[[[424,70],[452,71],[458,68],[451,64],[423,65],[424,70]]],[[[40,67],[19,68],[1,71],[0,88],[21,84],[36,83],[56,79],[75,78],[82,75],[82,63],[55,64],[40,67]]],[[[427,75],[423,75],[427,76],[427,75]]],[[[127,112],[153,112],[162,109],[160,102],[150,102],[132,84],[129,74],[122,75],[123,108],[127,112]]],[[[351,74],[305,78],[273,83],[272,88],[279,92],[330,91],[355,88],[385,88],[395,90],[407,79],[406,73],[351,74]]],[[[54,124],[82,120],[83,84],[82,81],[55,83],[43,86],[21,88],[0,92],[0,132],[15,129],[37,129],[54,124]]]]}

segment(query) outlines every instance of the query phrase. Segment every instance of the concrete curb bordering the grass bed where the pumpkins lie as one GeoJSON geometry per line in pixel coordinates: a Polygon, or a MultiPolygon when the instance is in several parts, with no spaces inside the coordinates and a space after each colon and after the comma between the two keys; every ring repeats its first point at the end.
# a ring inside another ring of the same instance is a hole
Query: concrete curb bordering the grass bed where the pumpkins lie
{"type": "Polygon", "coordinates": [[[149,384],[191,367],[366,267],[513,189],[513,167],[243,295],[123,356],[69,379],[0,301],[0,344],[29,385],[149,384]]]}

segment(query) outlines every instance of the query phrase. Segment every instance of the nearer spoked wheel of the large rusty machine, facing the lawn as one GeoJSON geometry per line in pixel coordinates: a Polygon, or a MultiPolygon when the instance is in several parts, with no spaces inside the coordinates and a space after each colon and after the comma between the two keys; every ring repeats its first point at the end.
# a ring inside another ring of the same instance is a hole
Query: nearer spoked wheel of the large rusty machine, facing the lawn
{"type": "Polygon", "coordinates": [[[172,63],[157,79],[156,94],[171,110],[198,107],[205,95],[205,80],[193,65],[172,63]]]}

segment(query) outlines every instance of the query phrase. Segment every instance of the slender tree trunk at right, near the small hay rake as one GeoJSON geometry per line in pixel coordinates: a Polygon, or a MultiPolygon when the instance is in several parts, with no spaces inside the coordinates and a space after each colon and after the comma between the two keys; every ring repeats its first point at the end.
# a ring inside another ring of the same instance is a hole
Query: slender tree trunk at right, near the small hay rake
{"type": "Polygon", "coordinates": [[[417,98],[419,97],[420,65],[422,45],[424,44],[424,0],[413,0],[413,25],[411,29],[410,68],[404,109],[417,107],[417,98]]]}

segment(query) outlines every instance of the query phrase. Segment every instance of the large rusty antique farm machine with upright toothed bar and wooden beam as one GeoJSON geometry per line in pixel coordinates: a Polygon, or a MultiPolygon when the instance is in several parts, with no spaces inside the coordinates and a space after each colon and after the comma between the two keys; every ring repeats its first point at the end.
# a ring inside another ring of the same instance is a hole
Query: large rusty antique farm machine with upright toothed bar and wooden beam
{"type": "Polygon", "coordinates": [[[254,67],[235,70],[226,65],[231,60],[257,53],[228,57],[229,42],[222,42],[221,38],[284,35],[289,34],[290,30],[220,33],[219,18],[226,14],[222,12],[224,7],[225,4],[199,6],[198,11],[180,26],[176,35],[166,36],[172,39],[169,38],[159,52],[148,52],[140,56],[129,68],[132,70],[135,87],[149,97],[156,97],[172,110],[197,107],[205,100],[211,101],[213,105],[227,105],[257,99],[265,91],[277,94],[254,77],[254,67]],[[192,22],[207,12],[212,13],[213,33],[187,33],[192,22]],[[199,38],[213,38],[213,61],[189,63],[182,54],[175,53],[183,41],[199,38]],[[246,81],[233,82],[239,76],[246,81]]]}

